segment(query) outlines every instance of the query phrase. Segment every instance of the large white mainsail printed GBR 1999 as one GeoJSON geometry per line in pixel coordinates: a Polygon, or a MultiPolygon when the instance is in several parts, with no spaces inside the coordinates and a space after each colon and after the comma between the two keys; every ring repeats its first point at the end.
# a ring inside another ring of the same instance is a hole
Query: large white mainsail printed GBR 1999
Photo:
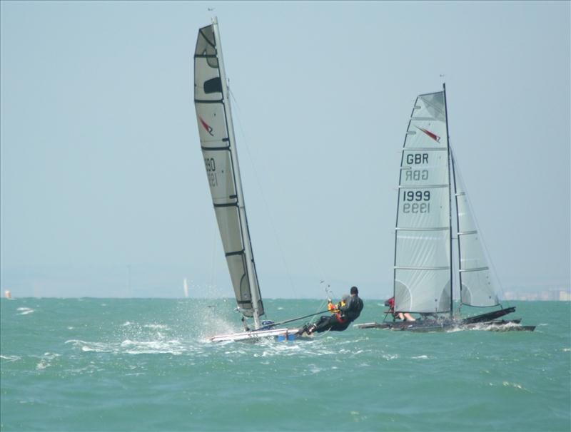
{"type": "Polygon", "coordinates": [[[395,311],[450,311],[450,170],[444,92],[415,101],[403,146],[395,232],[395,311]]]}

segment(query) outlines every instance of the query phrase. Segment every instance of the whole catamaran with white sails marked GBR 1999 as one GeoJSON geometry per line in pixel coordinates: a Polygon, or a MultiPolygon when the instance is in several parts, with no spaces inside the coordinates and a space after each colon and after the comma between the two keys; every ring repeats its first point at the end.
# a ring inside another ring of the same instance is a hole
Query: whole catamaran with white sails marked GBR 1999
{"type": "Polygon", "coordinates": [[[397,322],[385,312],[382,324],[355,327],[435,331],[481,324],[489,329],[525,329],[520,320],[497,320],[515,311],[503,308],[490,275],[480,235],[448,139],[446,88],[418,96],[403,145],[395,230],[394,312],[420,314],[397,322]],[[456,235],[456,237],[454,237],[456,235]],[[453,240],[458,240],[458,268],[453,240]],[[453,311],[454,272],[460,306],[500,307],[461,319],[453,311]]]}

